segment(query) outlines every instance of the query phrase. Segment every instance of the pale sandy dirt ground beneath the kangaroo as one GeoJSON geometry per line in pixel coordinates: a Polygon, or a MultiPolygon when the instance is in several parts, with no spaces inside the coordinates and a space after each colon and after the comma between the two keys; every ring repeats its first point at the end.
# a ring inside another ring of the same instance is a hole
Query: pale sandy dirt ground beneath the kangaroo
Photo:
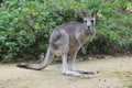
{"type": "Polygon", "coordinates": [[[0,65],[0,88],[132,88],[132,56],[92,58],[76,66],[99,73],[73,77],[62,75],[62,64],[43,70],[0,65]]]}

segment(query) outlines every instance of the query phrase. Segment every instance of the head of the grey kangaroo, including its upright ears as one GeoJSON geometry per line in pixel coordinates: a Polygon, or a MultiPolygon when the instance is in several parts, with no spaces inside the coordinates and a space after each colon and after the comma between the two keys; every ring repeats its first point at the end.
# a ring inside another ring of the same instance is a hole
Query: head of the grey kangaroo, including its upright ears
{"type": "Polygon", "coordinates": [[[90,15],[88,15],[84,10],[81,10],[82,14],[84,14],[84,25],[86,29],[95,29],[95,24],[96,24],[96,15],[98,10],[95,10],[94,12],[91,12],[90,15]]]}

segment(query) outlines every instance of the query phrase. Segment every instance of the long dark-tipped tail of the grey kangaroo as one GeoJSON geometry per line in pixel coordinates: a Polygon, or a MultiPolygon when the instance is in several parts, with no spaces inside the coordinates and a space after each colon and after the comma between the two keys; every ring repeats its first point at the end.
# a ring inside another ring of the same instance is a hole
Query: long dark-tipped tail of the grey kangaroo
{"type": "Polygon", "coordinates": [[[48,46],[46,57],[41,64],[19,64],[18,67],[41,70],[50,65],[53,61],[54,54],[52,53],[51,46],[48,46]]]}

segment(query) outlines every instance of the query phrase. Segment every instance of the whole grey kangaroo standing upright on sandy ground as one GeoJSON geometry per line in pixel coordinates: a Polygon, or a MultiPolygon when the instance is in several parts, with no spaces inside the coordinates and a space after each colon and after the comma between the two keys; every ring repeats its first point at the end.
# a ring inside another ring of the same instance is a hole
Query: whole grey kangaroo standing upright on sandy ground
{"type": "Polygon", "coordinates": [[[63,74],[80,76],[81,74],[94,74],[74,67],[78,51],[86,53],[84,44],[89,42],[96,34],[95,23],[98,10],[88,15],[84,10],[84,23],[68,22],[56,26],[53,31],[45,59],[41,64],[20,64],[18,67],[41,70],[50,65],[55,55],[62,56],[63,74]]]}

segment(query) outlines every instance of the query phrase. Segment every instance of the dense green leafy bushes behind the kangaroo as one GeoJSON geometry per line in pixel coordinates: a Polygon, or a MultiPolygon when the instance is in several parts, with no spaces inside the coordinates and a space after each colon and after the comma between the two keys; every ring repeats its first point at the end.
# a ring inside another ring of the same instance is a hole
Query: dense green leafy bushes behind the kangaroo
{"type": "Polygon", "coordinates": [[[56,25],[82,22],[81,9],[98,8],[97,35],[87,54],[132,54],[132,0],[2,0],[0,62],[43,59],[56,25]]]}

